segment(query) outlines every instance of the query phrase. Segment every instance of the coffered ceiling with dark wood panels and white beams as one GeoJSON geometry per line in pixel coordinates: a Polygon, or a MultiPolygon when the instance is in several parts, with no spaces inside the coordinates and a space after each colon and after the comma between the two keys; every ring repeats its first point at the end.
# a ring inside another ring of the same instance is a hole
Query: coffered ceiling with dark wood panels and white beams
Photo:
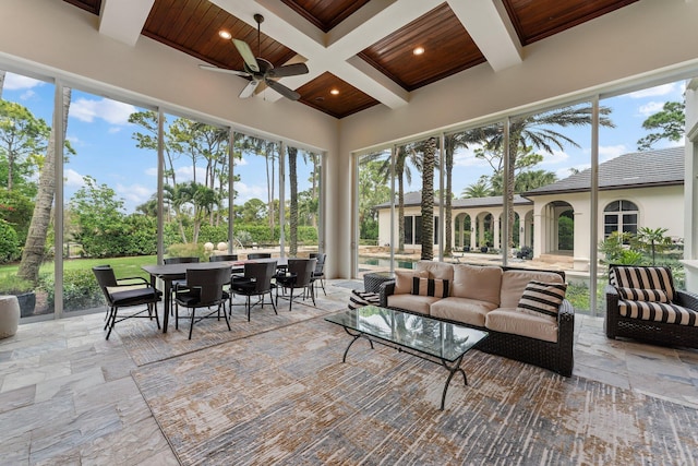
{"type": "MultiPolygon", "coordinates": [[[[515,65],[530,44],[638,0],[64,1],[98,15],[104,35],[130,45],[143,35],[202,63],[243,69],[221,29],[276,67],[305,62],[310,73],[280,80],[301,94],[296,105],[344,118],[408,105],[414,89],[471,67],[515,65]],[[258,41],[255,13],[264,16],[258,41]]],[[[231,86],[245,84],[230,75],[231,86]]],[[[272,89],[257,97],[282,98],[272,89]]]]}

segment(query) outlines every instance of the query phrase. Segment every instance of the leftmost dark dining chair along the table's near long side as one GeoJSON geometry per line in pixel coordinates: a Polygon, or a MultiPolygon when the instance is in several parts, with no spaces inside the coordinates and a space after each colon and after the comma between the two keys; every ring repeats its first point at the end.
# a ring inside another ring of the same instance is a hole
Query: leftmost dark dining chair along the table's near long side
{"type": "Polygon", "coordinates": [[[220,309],[222,308],[222,316],[226,320],[228,330],[230,322],[224,303],[230,297],[222,289],[224,285],[230,283],[230,267],[216,268],[188,268],[185,288],[174,288],[174,327],[179,328],[179,307],[182,306],[191,310],[191,323],[189,325],[189,339],[192,339],[194,324],[204,319],[220,320],[220,309]],[[210,308],[215,307],[214,311],[210,308]],[[209,308],[207,314],[196,319],[196,309],[209,308]],[[214,315],[216,314],[216,315],[214,315]]]}

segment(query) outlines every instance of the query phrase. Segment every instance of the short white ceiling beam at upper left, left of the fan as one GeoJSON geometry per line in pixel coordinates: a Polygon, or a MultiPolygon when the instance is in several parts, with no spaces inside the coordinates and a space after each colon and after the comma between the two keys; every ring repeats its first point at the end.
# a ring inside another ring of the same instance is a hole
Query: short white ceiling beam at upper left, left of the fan
{"type": "Polygon", "coordinates": [[[134,46],[155,0],[104,0],[99,34],[134,46]]]}

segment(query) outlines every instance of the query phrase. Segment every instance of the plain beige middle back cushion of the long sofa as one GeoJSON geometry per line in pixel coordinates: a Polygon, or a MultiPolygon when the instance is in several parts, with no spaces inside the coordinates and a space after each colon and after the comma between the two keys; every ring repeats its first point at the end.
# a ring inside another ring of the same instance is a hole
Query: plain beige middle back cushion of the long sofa
{"type": "Polygon", "coordinates": [[[496,308],[501,285],[502,267],[456,264],[450,295],[490,302],[496,308]]]}

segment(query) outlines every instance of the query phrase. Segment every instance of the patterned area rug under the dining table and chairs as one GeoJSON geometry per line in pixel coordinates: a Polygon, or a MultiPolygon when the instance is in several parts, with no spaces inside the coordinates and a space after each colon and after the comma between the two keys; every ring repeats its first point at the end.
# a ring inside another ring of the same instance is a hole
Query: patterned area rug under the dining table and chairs
{"type": "MultiPolygon", "coordinates": [[[[194,325],[192,339],[189,339],[190,319],[186,310],[180,309],[179,330],[174,328],[174,319],[170,318],[167,333],[157,330],[155,322],[145,319],[131,319],[115,326],[129,355],[137,366],[144,366],[154,361],[161,361],[203,348],[220,345],[246,338],[274,328],[291,325],[308,319],[326,315],[347,307],[349,300],[346,290],[326,286],[327,296],[320,290],[315,298],[316,307],[312,306],[310,298],[305,301],[293,300],[292,310],[289,312],[288,300],[279,298],[278,315],[274,313],[272,304],[266,297],[264,308],[252,308],[251,320],[248,322],[242,297],[237,297],[233,302],[232,316],[230,318],[230,332],[226,322],[217,319],[205,319],[194,325]]],[[[254,298],[253,298],[254,300],[254,298]]],[[[161,306],[158,307],[161,322],[161,306]]],[[[196,311],[196,315],[206,312],[196,311]]]]}

